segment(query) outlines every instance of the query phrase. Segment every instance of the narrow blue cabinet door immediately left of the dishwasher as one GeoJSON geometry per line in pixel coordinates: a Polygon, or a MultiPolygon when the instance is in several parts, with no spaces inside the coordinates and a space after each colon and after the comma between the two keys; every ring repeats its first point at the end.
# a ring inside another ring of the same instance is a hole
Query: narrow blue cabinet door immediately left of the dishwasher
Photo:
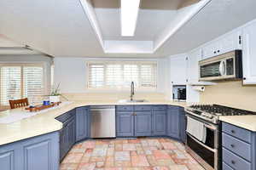
{"type": "Polygon", "coordinates": [[[90,137],[90,110],[79,107],[76,111],[76,141],[79,141],[90,137]]]}

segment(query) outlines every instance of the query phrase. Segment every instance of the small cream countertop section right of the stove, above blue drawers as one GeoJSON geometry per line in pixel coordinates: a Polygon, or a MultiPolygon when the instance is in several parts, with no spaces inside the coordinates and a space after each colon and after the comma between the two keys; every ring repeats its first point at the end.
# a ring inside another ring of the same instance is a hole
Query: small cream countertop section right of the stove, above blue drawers
{"type": "Polygon", "coordinates": [[[220,116],[219,120],[256,132],[256,115],[220,116]]]}

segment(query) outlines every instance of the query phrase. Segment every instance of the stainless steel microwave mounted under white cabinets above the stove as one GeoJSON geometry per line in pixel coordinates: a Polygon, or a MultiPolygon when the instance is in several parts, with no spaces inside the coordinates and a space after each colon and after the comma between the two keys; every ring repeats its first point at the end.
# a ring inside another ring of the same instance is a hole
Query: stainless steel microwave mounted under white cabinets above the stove
{"type": "Polygon", "coordinates": [[[241,50],[199,61],[200,81],[242,78],[241,50]]]}

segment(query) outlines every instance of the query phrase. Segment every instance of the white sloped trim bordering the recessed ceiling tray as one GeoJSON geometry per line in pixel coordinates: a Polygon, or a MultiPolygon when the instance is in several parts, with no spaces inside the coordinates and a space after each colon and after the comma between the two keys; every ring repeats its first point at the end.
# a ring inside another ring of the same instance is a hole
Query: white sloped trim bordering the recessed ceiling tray
{"type": "Polygon", "coordinates": [[[91,0],[79,0],[84,9],[84,14],[90,21],[90,26],[92,26],[96,33],[96,37],[105,54],[154,54],[168,39],[211,1],[212,0],[201,0],[199,3],[178,9],[177,15],[170,25],[167,26],[154,41],[108,41],[104,40],[102,37],[102,31],[91,0]]]}

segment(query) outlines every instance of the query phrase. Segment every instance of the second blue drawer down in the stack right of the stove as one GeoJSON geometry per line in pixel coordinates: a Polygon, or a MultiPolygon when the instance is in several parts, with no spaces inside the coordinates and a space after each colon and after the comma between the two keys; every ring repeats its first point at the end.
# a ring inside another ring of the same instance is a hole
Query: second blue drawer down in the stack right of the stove
{"type": "Polygon", "coordinates": [[[236,153],[236,155],[241,156],[247,161],[251,161],[251,144],[222,133],[222,145],[224,148],[236,153]]]}

